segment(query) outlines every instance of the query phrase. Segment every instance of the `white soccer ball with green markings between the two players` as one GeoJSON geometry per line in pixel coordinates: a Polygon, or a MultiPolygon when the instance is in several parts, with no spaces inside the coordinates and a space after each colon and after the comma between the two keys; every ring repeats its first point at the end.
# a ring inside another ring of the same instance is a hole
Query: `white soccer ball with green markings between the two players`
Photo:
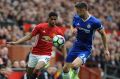
{"type": "Polygon", "coordinates": [[[55,47],[62,47],[65,43],[65,38],[61,35],[56,35],[53,37],[53,45],[55,47]]]}

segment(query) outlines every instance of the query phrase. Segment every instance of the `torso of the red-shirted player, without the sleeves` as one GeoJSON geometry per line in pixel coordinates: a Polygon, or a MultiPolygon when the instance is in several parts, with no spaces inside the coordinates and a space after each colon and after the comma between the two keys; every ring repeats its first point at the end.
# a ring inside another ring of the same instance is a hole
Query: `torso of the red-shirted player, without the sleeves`
{"type": "Polygon", "coordinates": [[[40,28],[40,32],[37,35],[36,44],[33,47],[33,52],[39,54],[51,54],[52,51],[52,38],[57,35],[58,27],[49,27],[48,24],[44,24],[40,28]]]}

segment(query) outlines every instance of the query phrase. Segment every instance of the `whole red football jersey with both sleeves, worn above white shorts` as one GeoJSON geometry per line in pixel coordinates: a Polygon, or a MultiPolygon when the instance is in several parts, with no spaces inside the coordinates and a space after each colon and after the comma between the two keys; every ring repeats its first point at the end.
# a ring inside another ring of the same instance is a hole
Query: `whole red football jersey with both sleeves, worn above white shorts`
{"type": "Polygon", "coordinates": [[[50,27],[48,23],[38,24],[32,30],[32,36],[37,35],[35,46],[33,46],[32,54],[36,55],[51,55],[52,52],[52,38],[55,35],[63,35],[61,29],[57,26],[50,27]]]}

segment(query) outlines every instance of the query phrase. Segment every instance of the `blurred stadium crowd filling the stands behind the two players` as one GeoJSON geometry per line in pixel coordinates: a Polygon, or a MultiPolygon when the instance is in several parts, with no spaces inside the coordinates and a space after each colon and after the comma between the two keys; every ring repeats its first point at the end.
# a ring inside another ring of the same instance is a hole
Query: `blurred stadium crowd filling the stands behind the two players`
{"type": "MultiPolygon", "coordinates": [[[[47,14],[56,11],[59,14],[58,26],[65,33],[67,49],[75,39],[70,26],[74,15],[74,2],[82,0],[0,0],[0,69],[2,66],[10,68],[25,68],[25,60],[11,62],[7,47],[2,46],[6,41],[15,41],[41,22],[47,20],[47,14]]],[[[111,65],[113,72],[120,67],[120,0],[83,0],[88,2],[90,13],[102,20],[109,41],[110,58],[103,54],[102,41],[98,33],[94,40],[94,48],[86,66],[99,67],[104,71],[105,64],[111,65]]],[[[25,44],[32,45],[33,41],[25,44]]],[[[63,56],[57,53],[57,64],[61,69],[63,56]]],[[[56,69],[54,69],[56,71],[56,69]]],[[[11,69],[8,69],[11,71],[11,69]]],[[[48,72],[50,69],[48,69],[48,72]]],[[[109,72],[111,72],[109,71],[109,72]]],[[[120,71],[116,71],[117,73],[120,71]]],[[[0,72],[3,73],[2,70],[0,72]]],[[[111,73],[110,73],[111,74],[111,73]]],[[[116,74],[115,74],[116,75],[116,74]]],[[[118,74],[117,74],[118,75],[118,74]]],[[[1,78],[0,78],[1,79],[1,78]]]]}

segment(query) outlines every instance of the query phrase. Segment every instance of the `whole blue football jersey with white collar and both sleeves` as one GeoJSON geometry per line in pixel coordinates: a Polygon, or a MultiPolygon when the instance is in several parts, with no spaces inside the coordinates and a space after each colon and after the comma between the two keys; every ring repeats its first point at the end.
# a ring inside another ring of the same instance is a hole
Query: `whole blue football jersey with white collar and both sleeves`
{"type": "Polygon", "coordinates": [[[92,40],[94,39],[95,31],[103,29],[101,21],[92,15],[84,21],[76,14],[73,18],[73,27],[77,28],[77,38],[74,45],[78,45],[79,48],[88,48],[90,50],[92,48],[92,40]]]}

